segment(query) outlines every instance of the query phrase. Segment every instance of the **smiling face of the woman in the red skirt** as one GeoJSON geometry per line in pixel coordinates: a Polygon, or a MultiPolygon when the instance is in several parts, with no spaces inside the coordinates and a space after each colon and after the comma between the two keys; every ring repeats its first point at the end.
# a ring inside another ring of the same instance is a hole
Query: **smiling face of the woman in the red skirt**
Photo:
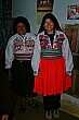
{"type": "Polygon", "coordinates": [[[50,20],[50,19],[47,19],[45,22],[44,22],[44,29],[47,31],[48,34],[51,34],[53,33],[53,28],[54,28],[54,23],[50,20]]]}

